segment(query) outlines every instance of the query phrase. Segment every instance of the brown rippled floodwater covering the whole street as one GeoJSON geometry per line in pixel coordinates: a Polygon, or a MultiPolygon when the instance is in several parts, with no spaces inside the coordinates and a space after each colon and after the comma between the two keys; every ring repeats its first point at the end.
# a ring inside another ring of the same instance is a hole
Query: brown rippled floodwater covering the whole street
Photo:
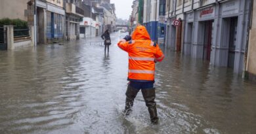
{"type": "Polygon", "coordinates": [[[105,56],[99,41],[0,52],[0,133],[256,133],[255,84],[164,49],[159,124],[150,124],[141,93],[123,116],[127,54],[114,43],[105,56]]]}

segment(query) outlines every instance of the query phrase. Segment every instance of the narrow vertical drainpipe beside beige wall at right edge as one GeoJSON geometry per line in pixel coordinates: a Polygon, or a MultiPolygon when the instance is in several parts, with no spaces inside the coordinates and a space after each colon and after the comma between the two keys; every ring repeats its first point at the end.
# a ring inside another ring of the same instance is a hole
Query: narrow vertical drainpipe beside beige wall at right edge
{"type": "Polygon", "coordinates": [[[253,16],[253,0],[249,1],[250,3],[250,7],[249,7],[249,18],[248,18],[248,24],[247,24],[247,38],[246,38],[246,46],[245,46],[245,53],[244,53],[244,71],[243,71],[243,78],[249,79],[249,75],[248,75],[248,65],[249,62],[248,60],[248,56],[249,56],[249,31],[251,30],[251,24],[252,24],[252,16],[253,16]]]}

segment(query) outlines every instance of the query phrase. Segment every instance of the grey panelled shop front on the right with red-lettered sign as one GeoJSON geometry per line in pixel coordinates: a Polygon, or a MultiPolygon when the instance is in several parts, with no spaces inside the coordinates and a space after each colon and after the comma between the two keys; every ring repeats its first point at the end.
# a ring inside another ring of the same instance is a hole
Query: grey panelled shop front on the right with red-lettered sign
{"type": "Polygon", "coordinates": [[[224,1],[186,14],[183,54],[242,73],[249,0],[224,1]]]}

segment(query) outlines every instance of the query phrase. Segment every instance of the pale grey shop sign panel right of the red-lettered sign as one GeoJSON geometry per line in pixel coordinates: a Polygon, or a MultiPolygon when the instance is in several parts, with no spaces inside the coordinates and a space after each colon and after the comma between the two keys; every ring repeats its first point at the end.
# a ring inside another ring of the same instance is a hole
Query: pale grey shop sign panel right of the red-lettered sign
{"type": "Polygon", "coordinates": [[[228,1],[223,3],[222,15],[238,14],[239,12],[239,1],[228,1]]]}

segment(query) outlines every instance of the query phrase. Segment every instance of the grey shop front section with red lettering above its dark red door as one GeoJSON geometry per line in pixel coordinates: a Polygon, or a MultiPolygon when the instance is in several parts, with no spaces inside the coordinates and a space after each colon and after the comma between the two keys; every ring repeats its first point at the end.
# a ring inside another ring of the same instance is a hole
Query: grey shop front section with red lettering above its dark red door
{"type": "MultiPolygon", "coordinates": [[[[215,8],[207,7],[201,10],[197,10],[195,14],[194,22],[187,23],[188,29],[193,28],[194,31],[192,35],[187,34],[186,43],[189,43],[189,39],[192,38],[192,57],[211,60],[211,47],[213,44],[213,31],[214,31],[214,18],[215,18],[215,8]],[[194,36],[193,36],[194,35],[194,36]]],[[[188,45],[187,45],[188,46],[188,45]]],[[[189,50],[186,47],[186,50],[189,50]]]]}

